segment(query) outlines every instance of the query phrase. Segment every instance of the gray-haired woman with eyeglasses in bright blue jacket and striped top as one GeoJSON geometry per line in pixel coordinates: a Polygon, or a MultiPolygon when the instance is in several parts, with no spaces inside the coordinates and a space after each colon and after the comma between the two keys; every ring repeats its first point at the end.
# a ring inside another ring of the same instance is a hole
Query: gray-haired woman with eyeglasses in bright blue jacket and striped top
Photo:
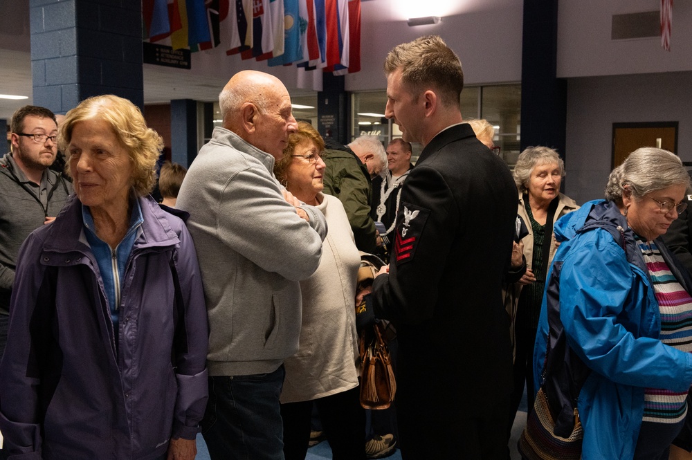
{"type": "MultiPolygon", "coordinates": [[[[585,365],[576,398],[585,460],[668,459],[689,410],[692,279],[659,238],[686,208],[689,187],[680,158],[644,147],[612,171],[605,201],[556,223],[562,243],[540,313],[534,378],[538,389],[548,334],[562,326],[585,365]],[[549,324],[554,302],[559,320],[549,324]]],[[[552,388],[569,383],[565,374],[548,380],[552,388]]]]}

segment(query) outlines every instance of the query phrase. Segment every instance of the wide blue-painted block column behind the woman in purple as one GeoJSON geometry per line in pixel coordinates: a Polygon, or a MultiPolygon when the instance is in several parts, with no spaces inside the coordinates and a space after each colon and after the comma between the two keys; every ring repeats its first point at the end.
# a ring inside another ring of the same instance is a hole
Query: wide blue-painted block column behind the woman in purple
{"type": "Polygon", "coordinates": [[[65,113],[93,95],[144,107],[141,0],[30,0],[33,103],[65,113]]]}

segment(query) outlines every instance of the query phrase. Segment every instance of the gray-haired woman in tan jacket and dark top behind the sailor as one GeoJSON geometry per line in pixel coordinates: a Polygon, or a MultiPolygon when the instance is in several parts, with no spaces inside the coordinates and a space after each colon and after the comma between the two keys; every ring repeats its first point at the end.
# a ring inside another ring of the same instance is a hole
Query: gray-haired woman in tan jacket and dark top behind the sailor
{"type": "MultiPolygon", "coordinates": [[[[573,199],[561,194],[565,163],[548,147],[528,147],[514,167],[514,182],[519,190],[517,214],[529,234],[522,239],[527,270],[513,288],[512,328],[515,338],[514,389],[511,394],[509,429],[524,394],[524,385],[534,387],[533,358],[536,326],[543,300],[545,277],[555,254],[554,223],[579,208],[573,199]]],[[[527,392],[529,407],[534,394],[527,392]]]]}

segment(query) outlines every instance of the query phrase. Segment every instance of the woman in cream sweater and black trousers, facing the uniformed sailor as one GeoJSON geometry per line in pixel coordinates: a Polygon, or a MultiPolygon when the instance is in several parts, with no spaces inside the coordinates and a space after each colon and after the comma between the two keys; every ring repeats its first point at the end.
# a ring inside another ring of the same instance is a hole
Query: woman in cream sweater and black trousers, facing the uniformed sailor
{"type": "Polygon", "coordinates": [[[284,360],[281,393],[286,460],[304,459],[313,401],[336,460],[365,459],[365,413],[358,400],[356,275],[361,257],[341,202],[322,193],[325,143],[305,122],[291,134],[274,172],[300,201],[325,214],[329,232],[317,271],[300,282],[300,349],[284,360]]]}

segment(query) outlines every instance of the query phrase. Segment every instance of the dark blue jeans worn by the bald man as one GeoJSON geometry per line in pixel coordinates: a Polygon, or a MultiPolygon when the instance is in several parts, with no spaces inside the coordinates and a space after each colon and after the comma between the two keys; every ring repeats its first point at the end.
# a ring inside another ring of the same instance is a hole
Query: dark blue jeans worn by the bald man
{"type": "Polygon", "coordinates": [[[212,460],[284,460],[285,375],[282,365],[271,374],[209,378],[202,436],[212,460]]]}

